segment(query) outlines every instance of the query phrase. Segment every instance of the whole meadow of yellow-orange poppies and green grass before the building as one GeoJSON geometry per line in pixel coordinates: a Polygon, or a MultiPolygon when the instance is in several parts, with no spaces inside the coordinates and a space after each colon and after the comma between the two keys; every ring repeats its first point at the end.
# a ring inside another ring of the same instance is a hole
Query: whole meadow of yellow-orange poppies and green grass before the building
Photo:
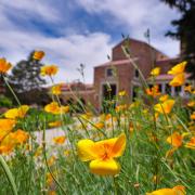
{"type": "MultiPolygon", "coordinates": [[[[125,46],[123,52],[131,60],[125,46]]],[[[43,56],[43,51],[35,51],[34,61],[43,56]]],[[[21,104],[6,79],[12,65],[0,58],[0,75],[17,103],[0,117],[0,194],[194,195],[195,88],[185,86],[187,101],[161,94],[155,83],[160,68],[151,72],[148,87],[131,63],[142,82],[133,102],[120,91],[105,100],[104,112],[79,102],[79,113],[78,105],[61,102],[62,84],[53,81],[60,72],[56,65],[40,70],[53,86],[52,101],[32,108],[21,104]],[[48,143],[50,128],[64,135],[48,143]],[[41,142],[35,132],[40,132],[41,142]]],[[[184,84],[186,63],[167,73],[173,76],[170,86],[184,84]]]]}

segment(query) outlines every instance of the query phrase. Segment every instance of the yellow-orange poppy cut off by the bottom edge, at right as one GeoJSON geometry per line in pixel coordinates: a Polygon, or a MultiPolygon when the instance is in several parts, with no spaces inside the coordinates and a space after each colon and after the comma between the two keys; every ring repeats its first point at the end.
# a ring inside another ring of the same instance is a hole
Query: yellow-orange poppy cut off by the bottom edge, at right
{"type": "Polygon", "coordinates": [[[146,195],[185,195],[185,187],[183,185],[177,185],[173,188],[160,188],[146,195]]]}

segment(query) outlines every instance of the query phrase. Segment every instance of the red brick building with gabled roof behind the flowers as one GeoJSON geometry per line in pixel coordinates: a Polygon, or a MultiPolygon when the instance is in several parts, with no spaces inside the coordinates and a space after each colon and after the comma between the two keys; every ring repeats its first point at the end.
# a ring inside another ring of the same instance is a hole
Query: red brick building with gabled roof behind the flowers
{"type": "MultiPolygon", "coordinates": [[[[151,83],[148,79],[151,70],[154,67],[160,67],[160,75],[156,78],[156,83],[159,84],[161,93],[184,96],[184,87],[173,88],[168,84],[172,76],[167,75],[167,72],[180,62],[180,57],[169,58],[146,42],[135,39],[123,40],[113,48],[109,62],[94,67],[93,84],[72,83],[69,88],[65,86],[63,100],[65,102],[76,101],[79,98],[84,103],[90,102],[100,112],[103,100],[108,95],[107,87],[109,86],[112,98],[125,90],[129,101],[133,101],[136,96],[136,89],[142,86],[141,75],[133,63],[138,65],[148,84],[151,83]],[[130,58],[122,50],[122,46],[127,43],[130,58]],[[75,96],[74,93],[77,95],[75,96]]],[[[188,77],[187,74],[185,76],[188,77]]]]}

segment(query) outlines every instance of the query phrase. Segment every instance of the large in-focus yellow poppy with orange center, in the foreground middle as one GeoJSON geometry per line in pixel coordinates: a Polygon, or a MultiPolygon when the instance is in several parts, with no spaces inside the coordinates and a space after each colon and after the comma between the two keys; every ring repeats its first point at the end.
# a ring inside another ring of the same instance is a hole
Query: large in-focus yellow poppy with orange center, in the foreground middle
{"type": "Polygon", "coordinates": [[[123,154],[126,135],[93,142],[81,140],[77,144],[78,155],[82,161],[91,161],[89,167],[92,173],[100,176],[115,176],[120,171],[120,165],[114,159],[123,154]]]}

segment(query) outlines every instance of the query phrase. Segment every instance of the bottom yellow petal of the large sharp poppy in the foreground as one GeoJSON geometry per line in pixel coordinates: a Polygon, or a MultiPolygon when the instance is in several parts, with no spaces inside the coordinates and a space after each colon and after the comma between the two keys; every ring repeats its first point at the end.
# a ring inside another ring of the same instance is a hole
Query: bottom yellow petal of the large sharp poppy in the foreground
{"type": "Polygon", "coordinates": [[[94,174],[115,176],[120,171],[120,165],[114,159],[95,159],[90,162],[90,170],[94,174]]]}

